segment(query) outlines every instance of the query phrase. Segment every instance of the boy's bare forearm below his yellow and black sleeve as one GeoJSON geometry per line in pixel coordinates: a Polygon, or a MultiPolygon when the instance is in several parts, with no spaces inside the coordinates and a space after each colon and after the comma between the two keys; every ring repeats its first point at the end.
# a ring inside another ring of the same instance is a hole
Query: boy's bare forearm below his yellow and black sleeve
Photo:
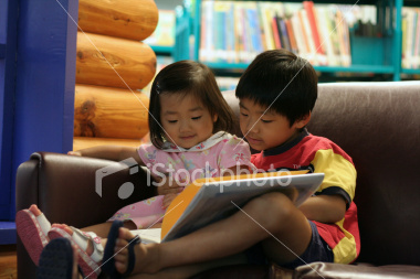
{"type": "Polygon", "coordinates": [[[346,201],[340,195],[316,195],[307,198],[300,210],[311,221],[336,223],[346,214],[346,201]]]}

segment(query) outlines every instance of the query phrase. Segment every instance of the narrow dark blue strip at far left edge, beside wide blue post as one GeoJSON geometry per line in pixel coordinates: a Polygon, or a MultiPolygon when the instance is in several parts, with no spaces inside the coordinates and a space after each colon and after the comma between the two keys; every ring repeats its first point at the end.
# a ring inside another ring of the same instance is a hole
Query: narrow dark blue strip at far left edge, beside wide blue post
{"type": "Polygon", "coordinates": [[[0,219],[11,219],[12,142],[18,3],[0,1],[0,219]]]}

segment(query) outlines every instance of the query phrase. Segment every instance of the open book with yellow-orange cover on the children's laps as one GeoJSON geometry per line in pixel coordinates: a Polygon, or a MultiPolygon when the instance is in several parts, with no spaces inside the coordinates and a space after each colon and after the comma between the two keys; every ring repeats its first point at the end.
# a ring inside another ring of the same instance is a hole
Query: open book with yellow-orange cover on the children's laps
{"type": "Polygon", "coordinates": [[[169,205],[161,232],[155,228],[134,233],[139,234],[144,243],[169,242],[225,218],[253,197],[273,191],[284,193],[300,206],[324,180],[323,173],[306,172],[266,172],[196,180],[169,205]]]}

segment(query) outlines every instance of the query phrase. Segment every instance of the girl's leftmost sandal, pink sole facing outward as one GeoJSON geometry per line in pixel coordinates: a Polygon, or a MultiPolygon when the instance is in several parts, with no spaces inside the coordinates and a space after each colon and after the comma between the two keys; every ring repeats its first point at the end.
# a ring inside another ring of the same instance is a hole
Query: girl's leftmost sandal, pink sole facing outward
{"type": "Polygon", "coordinates": [[[35,216],[30,210],[17,213],[17,232],[32,261],[38,266],[42,249],[49,244],[50,222],[44,214],[35,216]]]}

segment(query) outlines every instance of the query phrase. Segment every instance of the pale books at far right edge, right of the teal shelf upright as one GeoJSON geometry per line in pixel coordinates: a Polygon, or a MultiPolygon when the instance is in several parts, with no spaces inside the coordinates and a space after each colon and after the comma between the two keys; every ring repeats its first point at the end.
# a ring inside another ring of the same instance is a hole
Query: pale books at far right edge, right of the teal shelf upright
{"type": "Polygon", "coordinates": [[[420,68],[420,9],[402,8],[402,57],[403,68],[420,68]]]}

